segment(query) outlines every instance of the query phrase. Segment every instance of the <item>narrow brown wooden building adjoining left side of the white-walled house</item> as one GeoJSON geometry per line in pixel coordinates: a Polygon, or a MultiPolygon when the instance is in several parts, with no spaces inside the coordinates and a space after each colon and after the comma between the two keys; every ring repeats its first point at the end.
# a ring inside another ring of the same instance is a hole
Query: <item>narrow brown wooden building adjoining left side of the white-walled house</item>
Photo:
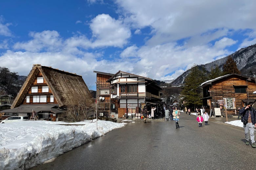
{"type": "Polygon", "coordinates": [[[100,71],[96,73],[96,101],[99,116],[109,116],[110,104],[110,83],[107,80],[114,74],[100,71]]]}

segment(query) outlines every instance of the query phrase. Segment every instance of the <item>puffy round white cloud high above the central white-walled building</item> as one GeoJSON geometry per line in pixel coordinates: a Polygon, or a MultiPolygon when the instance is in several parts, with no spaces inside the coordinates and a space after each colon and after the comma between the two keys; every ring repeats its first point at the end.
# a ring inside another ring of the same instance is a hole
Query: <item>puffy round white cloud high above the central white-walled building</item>
{"type": "Polygon", "coordinates": [[[92,19],[90,28],[93,32],[94,47],[123,47],[131,36],[131,31],[122,21],[115,20],[108,14],[97,15],[92,19]]]}

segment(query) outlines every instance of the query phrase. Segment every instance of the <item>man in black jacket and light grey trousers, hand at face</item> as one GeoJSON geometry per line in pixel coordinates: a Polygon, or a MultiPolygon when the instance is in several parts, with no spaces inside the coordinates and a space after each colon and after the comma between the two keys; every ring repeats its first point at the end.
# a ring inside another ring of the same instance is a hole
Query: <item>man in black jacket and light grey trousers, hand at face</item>
{"type": "Polygon", "coordinates": [[[244,123],[246,145],[249,145],[249,132],[251,138],[251,147],[255,148],[254,140],[254,128],[256,127],[256,114],[255,109],[251,107],[250,102],[245,102],[246,107],[239,110],[239,114],[242,116],[241,121],[244,123]]]}

